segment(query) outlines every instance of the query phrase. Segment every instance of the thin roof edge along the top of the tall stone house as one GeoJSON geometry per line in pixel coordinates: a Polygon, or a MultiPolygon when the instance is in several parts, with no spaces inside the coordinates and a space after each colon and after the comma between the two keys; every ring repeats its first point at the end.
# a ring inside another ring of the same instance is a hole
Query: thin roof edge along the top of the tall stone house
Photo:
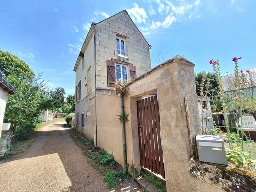
{"type": "MultiPolygon", "coordinates": [[[[101,23],[101,22],[103,22],[103,21],[106,21],[107,19],[109,19],[109,18],[111,18],[111,17],[114,17],[114,16],[116,16],[116,15],[122,13],[122,12],[127,13],[127,15],[129,16],[130,20],[132,21],[132,23],[135,25],[135,27],[137,28],[137,30],[140,32],[140,30],[138,29],[138,27],[137,27],[136,24],[133,22],[133,20],[131,19],[130,15],[128,14],[127,10],[122,10],[122,11],[116,13],[115,15],[112,15],[112,16],[110,16],[110,17],[108,17],[108,18],[106,18],[106,19],[104,19],[104,20],[102,20],[102,21],[100,21],[100,22],[98,22],[98,23],[92,23],[92,24],[91,24],[91,27],[90,27],[90,29],[89,29],[89,32],[88,32],[87,35],[86,35],[85,41],[84,41],[84,43],[83,43],[83,45],[82,45],[81,51],[80,51],[79,55],[77,56],[76,63],[75,63],[75,66],[74,66],[73,71],[76,71],[76,67],[77,67],[77,65],[78,65],[79,56],[80,56],[81,52],[83,52],[82,50],[84,49],[84,47],[86,46],[86,44],[87,44],[87,42],[88,42],[88,38],[89,38],[89,36],[90,36],[89,34],[91,34],[91,32],[92,32],[92,30],[93,30],[92,26],[96,26],[97,24],[99,24],[99,23],[101,23]]],[[[151,47],[151,45],[148,43],[148,41],[147,41],[146,38],[143,36],[143,34],[142,34],[141,32],[140,32],[140,34],[141,34],[142,37],[145,39],[145,41],[147,42],[148,46],[151,47]]]]}

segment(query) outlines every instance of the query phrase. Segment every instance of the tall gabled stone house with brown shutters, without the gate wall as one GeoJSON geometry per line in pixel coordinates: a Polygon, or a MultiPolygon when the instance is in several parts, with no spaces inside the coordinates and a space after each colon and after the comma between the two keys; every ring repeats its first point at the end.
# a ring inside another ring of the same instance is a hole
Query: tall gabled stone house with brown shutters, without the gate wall
{"type": "Polygon", "coordinates": [[[151,46],[126,10],[92,23],[74,66],[76,73],[75,124],[95,145],[122,162],[122,135],[117,119],[120,97],[117,79],[135,79],[151,70],[151,46]],[[106,140],[111,141],[106,145],[106,140]],[[120,155],[118,155],[120,154],[120,155]]]}

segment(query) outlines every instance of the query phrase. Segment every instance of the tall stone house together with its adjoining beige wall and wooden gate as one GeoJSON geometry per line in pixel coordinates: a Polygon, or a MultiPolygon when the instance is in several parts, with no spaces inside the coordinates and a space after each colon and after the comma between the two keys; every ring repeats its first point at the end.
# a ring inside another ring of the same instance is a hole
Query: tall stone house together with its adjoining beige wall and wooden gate
{"type": "Polygon", "coordinates": [[[128,166],[165,179],[167,191],[221,192],[189,171],[200,132],[187,128],[184,104],[196,94],[194,64],[175,56],[151,69],[150,47],[126,10],[91,25],[74,66],[75,128],[124,166],[120,96],[113,86],[132,80],[124,100],[128,166]]]}

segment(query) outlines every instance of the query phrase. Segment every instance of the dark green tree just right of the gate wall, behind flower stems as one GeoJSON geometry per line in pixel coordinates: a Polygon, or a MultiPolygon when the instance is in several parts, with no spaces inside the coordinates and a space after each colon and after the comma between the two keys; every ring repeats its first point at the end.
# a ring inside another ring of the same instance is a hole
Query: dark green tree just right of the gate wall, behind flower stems
{"type": "MultiPolygon", "coordinates": [[[[215,95],[216,92],[214,92],[214,90],[218,91],[218,82],[217,82],[217,77],[215,73],[211,73],[211,72],[199,72],[199,73],[195,73],[195,85],[196,85],[196,93],[200,93],[200,85],[202,83],[202,79],[203,79],[203,75],[205,74],[206,78],[208,77],[210,79],[210,87],[209,87],[209,93],[215,95]]],[[[204,83],[204,91],[205,91],[205,85],[206,83],[204,83]]],[[[210,94],[207,94],[208,96],[210,96],[210,94]]]]}

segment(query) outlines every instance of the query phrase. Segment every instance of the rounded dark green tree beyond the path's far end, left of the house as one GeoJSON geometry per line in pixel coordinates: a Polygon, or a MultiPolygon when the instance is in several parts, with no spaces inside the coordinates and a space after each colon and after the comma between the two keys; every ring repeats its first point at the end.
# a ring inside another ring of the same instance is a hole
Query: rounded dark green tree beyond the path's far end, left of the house
{"type": "Polygon", "coordinates": [[[51,109],[53,111],[56,111],[57,108],[61,108],[64,104],[65,99],[65,90],[62,87],[55,88],[54,91],[50,93],[50,103],[51,103],[51,109]]]}

